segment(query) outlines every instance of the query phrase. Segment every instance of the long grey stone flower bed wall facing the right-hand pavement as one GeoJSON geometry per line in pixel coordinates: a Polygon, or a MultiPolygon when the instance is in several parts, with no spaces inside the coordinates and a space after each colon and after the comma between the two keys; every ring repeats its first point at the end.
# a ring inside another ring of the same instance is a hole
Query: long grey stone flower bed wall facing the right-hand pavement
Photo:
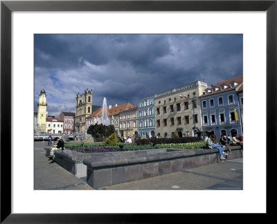
{"type": "MultiPolygon", "coordinates": [[[[231,150],[226,160],[242,157],[241,147],[231,150]]],[[[87,183],[97,189],[210,165],[219,162],[217,154],[217,149],[150,149],[103,153],[84,159],[83,164],[87,183]]]]}

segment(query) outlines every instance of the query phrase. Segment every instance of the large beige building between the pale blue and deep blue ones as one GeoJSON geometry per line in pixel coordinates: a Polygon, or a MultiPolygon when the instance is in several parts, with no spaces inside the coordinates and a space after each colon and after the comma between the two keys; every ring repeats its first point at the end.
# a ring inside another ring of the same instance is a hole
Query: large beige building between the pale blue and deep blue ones
{"type": "Polygon", "coordinates": [[[199,96],[207,87],[196,81],[154,95],[157,136],[198,136],[202,131],[199,96]]]}

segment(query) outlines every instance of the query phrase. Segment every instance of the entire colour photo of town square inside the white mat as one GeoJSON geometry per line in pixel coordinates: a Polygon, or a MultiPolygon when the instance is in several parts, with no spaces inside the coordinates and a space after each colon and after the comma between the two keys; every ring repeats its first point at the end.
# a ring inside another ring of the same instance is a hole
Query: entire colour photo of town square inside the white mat
{"type": "Polygon", "coordinates": [[[35,189],[243,189],[242,35],[35,35],[35,93],[35,189]]]}

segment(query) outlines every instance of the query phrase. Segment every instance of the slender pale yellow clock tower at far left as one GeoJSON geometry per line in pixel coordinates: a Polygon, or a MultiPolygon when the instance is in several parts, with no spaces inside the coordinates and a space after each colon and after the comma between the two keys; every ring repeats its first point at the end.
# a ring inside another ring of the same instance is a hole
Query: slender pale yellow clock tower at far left
{"type": "Polygon", "coordinates": [[[39,102],[37,103],[37,131],[46,131],[46,92],[44,88],[39,93],[39,102]]]}

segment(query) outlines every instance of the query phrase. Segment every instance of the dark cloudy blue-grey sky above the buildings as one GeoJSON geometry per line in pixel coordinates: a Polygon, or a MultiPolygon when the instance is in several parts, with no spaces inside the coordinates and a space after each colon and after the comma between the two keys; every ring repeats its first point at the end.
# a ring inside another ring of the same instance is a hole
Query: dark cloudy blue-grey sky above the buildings
{"type": "MultiPolygon", "coordinates": [[[[242,74],[242,35],[35,35],[35,102],[44,89],[48,115],[75,112],[76,93],[93,105],[138,105],[145,97],[242,74]]],[[[35,111],[37,106],[35,103],[35,111]]]]}

